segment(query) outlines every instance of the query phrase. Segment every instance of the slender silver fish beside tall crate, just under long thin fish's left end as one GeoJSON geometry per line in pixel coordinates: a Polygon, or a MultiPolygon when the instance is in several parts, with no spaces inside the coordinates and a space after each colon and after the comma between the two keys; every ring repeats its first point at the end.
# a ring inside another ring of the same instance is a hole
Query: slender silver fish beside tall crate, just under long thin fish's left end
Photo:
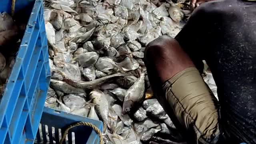
{"type": "Polygon", "coordinates": [[[83,89],[75,88],[73,86],[70,86],[66,82],[62,82],[62,81],[59,81],[59,80],[51,79],[50,85],[51,85],[52,88],[54,88],[54,90],[60,90],[60,91],[65,92],[67,94],[85,93],[85,91],[83,89]]]}

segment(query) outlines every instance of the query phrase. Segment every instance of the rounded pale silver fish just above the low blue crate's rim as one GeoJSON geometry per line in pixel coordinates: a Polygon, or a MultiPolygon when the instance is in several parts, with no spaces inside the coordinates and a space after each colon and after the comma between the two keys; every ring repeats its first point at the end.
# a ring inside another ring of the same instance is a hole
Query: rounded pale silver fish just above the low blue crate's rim
{"type": "Polygon", "coordinates": [[[64,96],[62,100],[64,104],[70,108],[71,111],[82,108],[86,102],[84,98],[74,94],[68,94],[64,96]]]}

